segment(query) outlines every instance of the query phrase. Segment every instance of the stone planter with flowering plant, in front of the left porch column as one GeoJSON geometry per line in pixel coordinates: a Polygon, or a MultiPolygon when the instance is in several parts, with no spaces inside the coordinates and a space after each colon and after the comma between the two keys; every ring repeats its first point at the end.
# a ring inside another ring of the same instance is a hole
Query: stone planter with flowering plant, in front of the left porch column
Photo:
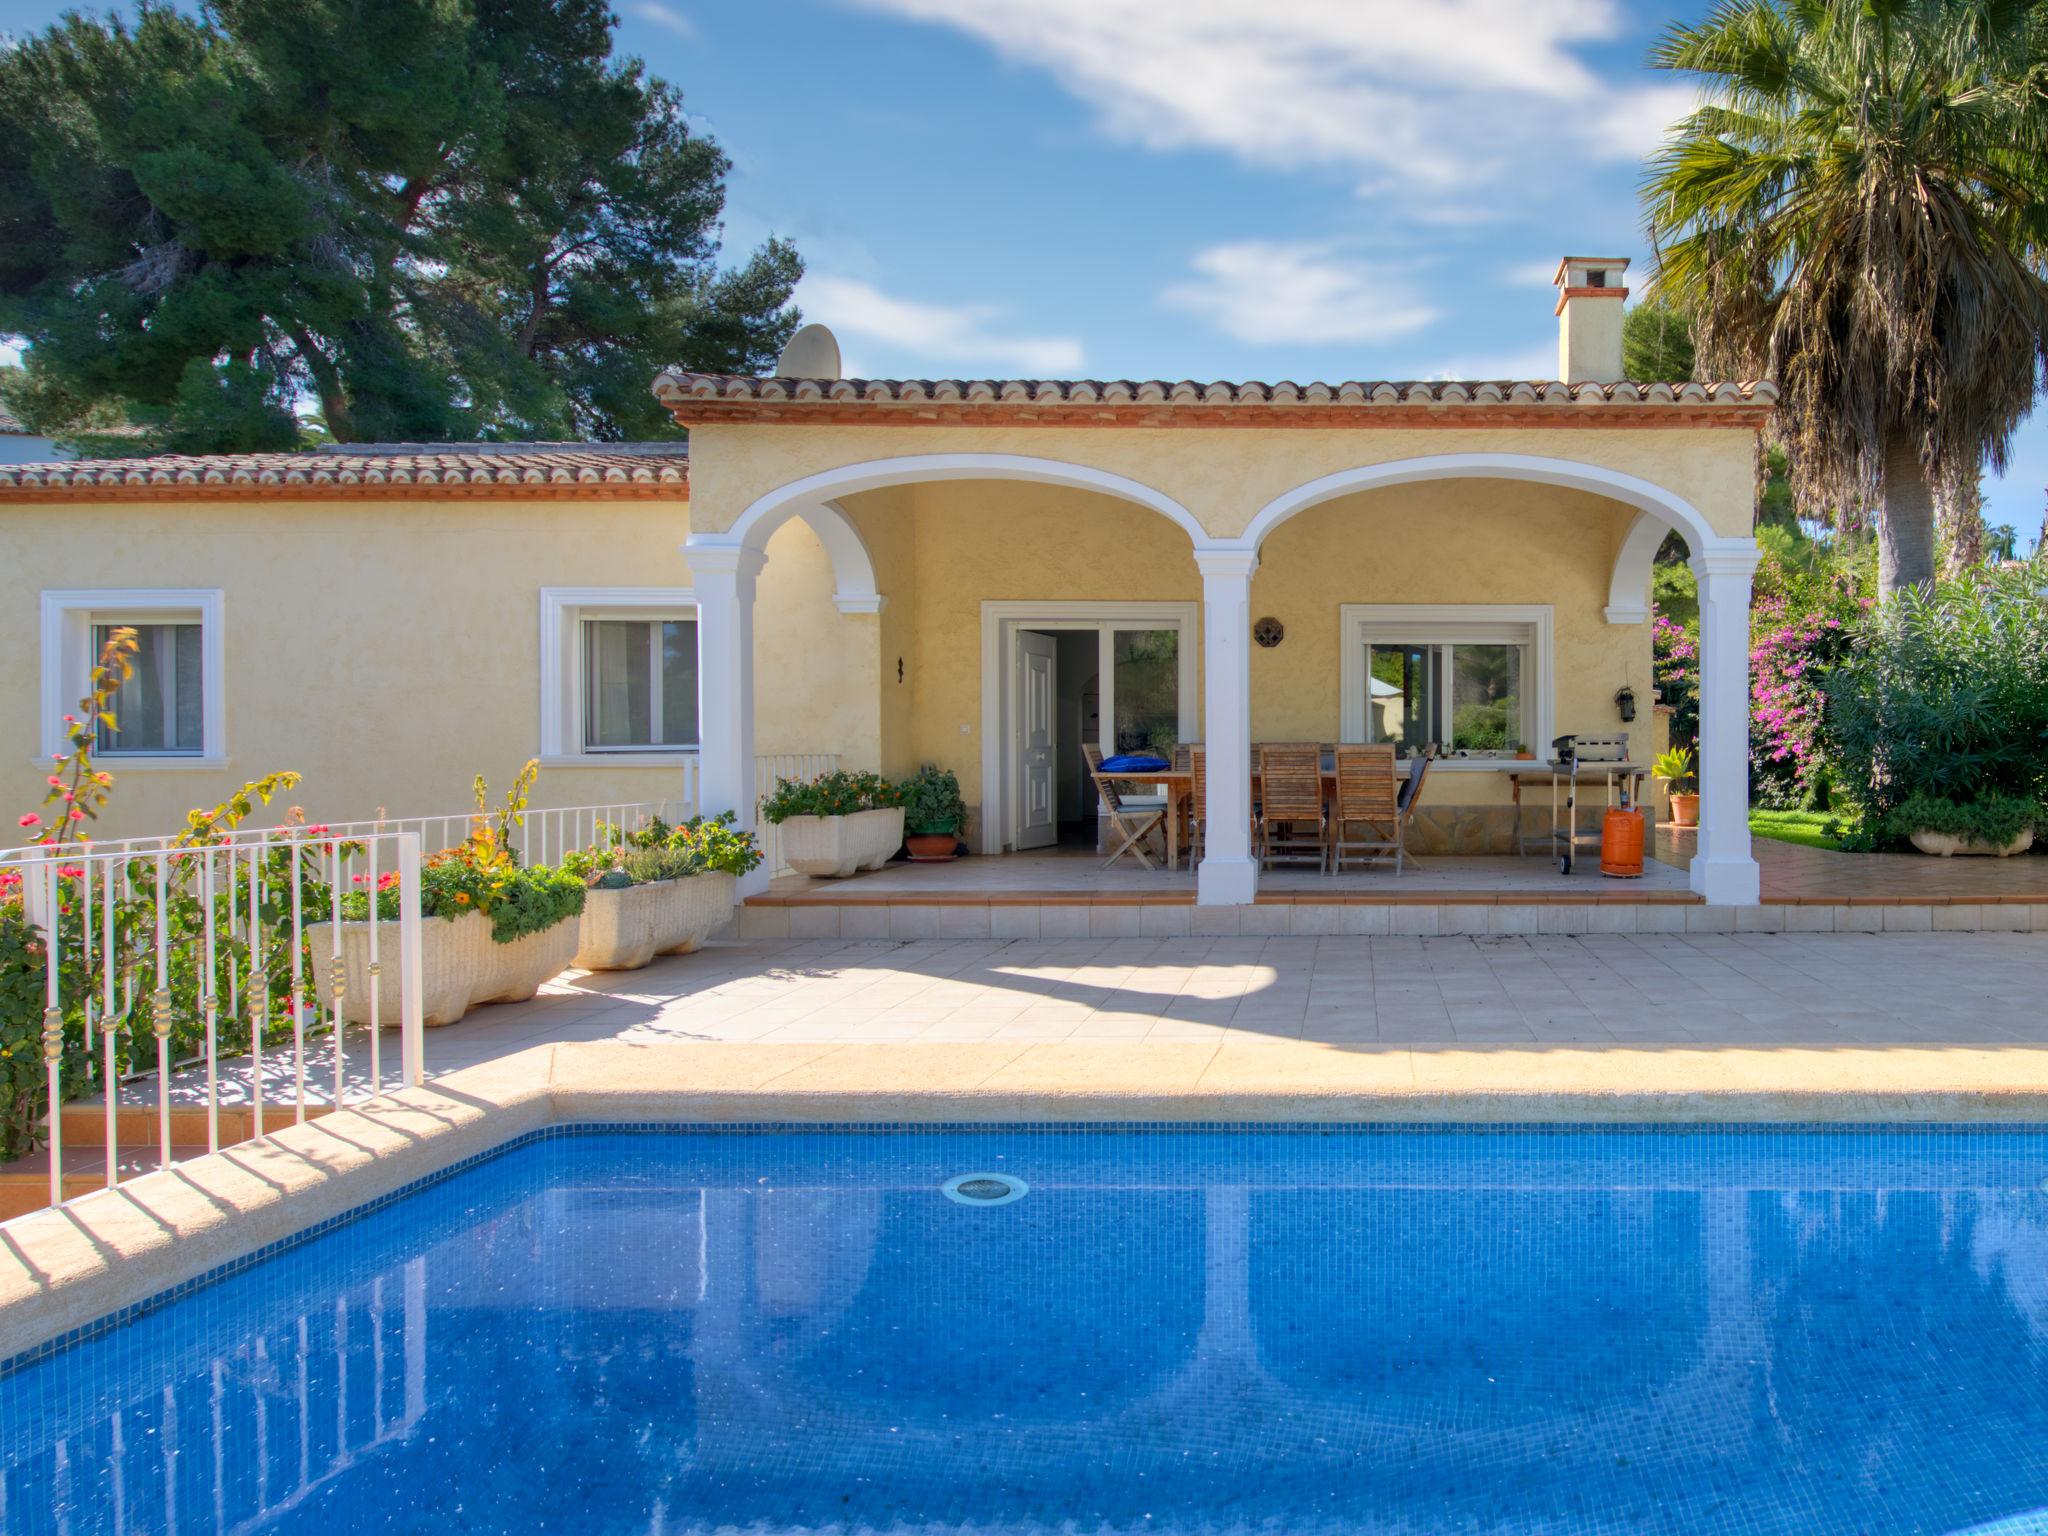
{"type": "Polygon", "coordinates": [[[690,954],[731,922],[733,883],[762,862],[752,831],[731,811],[672,827],[659,817],[637,831],[606,827],[600,848],[563,866],[584,881],[573,965],[637,971],[655,954],[690,954]]]}

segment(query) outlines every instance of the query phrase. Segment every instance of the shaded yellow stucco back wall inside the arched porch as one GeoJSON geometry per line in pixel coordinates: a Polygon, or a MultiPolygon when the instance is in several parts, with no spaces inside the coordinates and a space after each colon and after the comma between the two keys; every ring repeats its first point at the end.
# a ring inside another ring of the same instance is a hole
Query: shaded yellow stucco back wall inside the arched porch
{"type": "MultiPolygon", "coordinates": [[[[848,496],[842,506],[877,559],[895,625],[883,668],[885,770],[938,762],[977,807],[985,600],[1202,598],[1186,535],[1112,496],[944,481],[848,496]]],[[[1286,625],[1280,647],[1253,649],[1253,739],[1337,739],[1339,606],[1348,602],[1550,604],[1556,729],[1622,729],[1614,690],[1626,682],[1647,731],[1649,627],[1604,616],[1632,518],[1634,508],[1583,492],[1477,479],[1362,492],[1294,516],[1266,543],[1251,584],[1253,614],[1286,625]]],[[[1430,799],[1501,803],[1507,782],[1499,772],[1442,772],[1430,799]]]]}

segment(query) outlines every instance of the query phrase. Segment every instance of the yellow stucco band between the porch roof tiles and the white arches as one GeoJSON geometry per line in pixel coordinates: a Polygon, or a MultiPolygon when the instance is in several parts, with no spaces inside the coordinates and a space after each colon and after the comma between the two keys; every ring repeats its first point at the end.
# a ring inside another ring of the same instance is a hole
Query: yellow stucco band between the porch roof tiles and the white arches
{"type": "Polygon", "coordinates": [[[1217,539],[1245,530],[1276,496],[1341,469],[1446,453],[1573,459],[1663,485],[1722,537],[1749,537],[1755,438],[1741,428],[1085,428],[729,426],[690,432],[692,518],[721,532],[758,496],[805,475],[922,453],[1014,453],[1124,475],[1186,506],[1217,539]]]}

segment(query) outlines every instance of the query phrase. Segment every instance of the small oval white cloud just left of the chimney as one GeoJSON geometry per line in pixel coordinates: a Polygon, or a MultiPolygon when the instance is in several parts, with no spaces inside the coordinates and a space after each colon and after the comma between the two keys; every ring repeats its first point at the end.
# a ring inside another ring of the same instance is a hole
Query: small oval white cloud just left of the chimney
{"type": "Polygon", "coordinates": [[[1241,342],[1382,342],[1436,319],[1411,281],[1331,244],[1210,246],[1161,299],[1241,342]]]}

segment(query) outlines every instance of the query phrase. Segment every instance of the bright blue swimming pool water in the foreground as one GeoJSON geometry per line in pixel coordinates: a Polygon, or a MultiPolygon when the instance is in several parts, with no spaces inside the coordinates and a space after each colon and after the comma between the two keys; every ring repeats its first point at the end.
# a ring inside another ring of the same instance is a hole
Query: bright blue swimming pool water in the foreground
{"type": "Polygon", "coordinates": [[[557,1135],[0,1378],[0,1528],[2048,1530],[2044,1178],[2017,1130],[557,1135]]]}

